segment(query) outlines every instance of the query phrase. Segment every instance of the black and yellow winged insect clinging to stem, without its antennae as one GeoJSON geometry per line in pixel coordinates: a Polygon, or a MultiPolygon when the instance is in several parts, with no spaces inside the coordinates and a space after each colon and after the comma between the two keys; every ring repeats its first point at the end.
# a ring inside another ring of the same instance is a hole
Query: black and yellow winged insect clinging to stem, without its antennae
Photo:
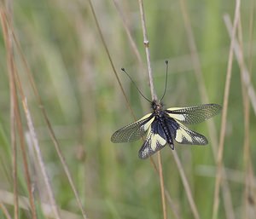
{"type": "Polygon", "coordinates": [[[148,158],[168,144],[174,149],[173,140],[180,144],[207,145],[204,135],[189,130],[183,124],[197,124],[220,112],[218,104],[204,104],[194,107],[172,107],[164,109],[160,101],[152,101],[153,112],[133,124],[113,133],[114,143],[136,141],[146,135],[139,150],[139,158],[148,158]]]}

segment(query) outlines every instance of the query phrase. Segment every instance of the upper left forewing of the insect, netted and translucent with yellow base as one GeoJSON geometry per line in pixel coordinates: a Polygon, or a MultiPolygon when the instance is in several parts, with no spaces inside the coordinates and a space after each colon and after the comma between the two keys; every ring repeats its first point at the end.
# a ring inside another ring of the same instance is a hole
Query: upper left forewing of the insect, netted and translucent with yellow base
{"type": "Polygon", "coordinates": [[[113,143],[136,141],[140,139],[143,135],[145,135],[153,120],[154,115],[152,113],[149,113],[143,118],[137,120],[137,122],[133,124],[128,124],[125,127],[114,132],[111,136],[111,141],[113,143]]]}

